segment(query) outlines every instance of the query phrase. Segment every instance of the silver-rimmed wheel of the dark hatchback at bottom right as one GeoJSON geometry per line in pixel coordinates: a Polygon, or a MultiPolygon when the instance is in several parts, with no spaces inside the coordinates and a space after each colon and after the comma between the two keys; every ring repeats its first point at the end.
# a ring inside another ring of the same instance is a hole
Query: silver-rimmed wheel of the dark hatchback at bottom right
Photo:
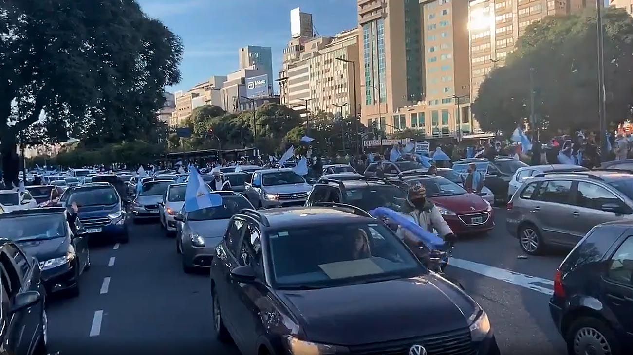
{"type": "Polygon", "coordinates": [[[582,317],[572,323],[565,338],[572,355],[620,355],[620,344],[613,330],[601,320],[582,317]]]}

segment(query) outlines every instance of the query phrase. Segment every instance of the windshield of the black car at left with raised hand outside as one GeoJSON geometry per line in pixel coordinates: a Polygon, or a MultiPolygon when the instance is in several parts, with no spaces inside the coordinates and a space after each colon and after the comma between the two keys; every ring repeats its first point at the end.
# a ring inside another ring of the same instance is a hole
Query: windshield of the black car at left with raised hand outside
{"type": "Polygon", "coordinates": [[[60,213],[2,218],[0,231],[1,237],[12,241],[57,238],[66,235],[65,217],[60,213]]]}

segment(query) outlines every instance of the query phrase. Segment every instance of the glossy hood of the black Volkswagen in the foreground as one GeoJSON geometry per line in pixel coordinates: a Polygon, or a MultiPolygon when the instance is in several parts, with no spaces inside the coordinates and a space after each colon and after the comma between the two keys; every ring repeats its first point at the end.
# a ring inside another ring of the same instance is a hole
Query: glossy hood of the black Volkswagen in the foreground
{"type": "Polygon", "coordinates": [[[433,274],[278,292],[292,313],[299,317],[306,339],[342,346],[466,328],[468,316],[477,309],[465,293],[433,274]],[[398,327],[389,326],[394,324],[398,327]]]}

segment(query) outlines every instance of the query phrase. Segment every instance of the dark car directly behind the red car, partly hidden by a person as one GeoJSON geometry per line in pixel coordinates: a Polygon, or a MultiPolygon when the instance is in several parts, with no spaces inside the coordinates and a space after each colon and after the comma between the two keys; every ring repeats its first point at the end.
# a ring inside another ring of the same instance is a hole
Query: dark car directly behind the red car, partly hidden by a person
{"type": "Polygon", "coordinates": [[[507,202],[508,188],[512,176],[520,167],[527,167],[529,165],[512,157],[505,156],[494,157],[492,161],[482,158],[465,158],[457,160],[453,165],[486,162],[488,163],[488,169],[484,179],[484,186],[494,193],[496,202],[507,202]]]}

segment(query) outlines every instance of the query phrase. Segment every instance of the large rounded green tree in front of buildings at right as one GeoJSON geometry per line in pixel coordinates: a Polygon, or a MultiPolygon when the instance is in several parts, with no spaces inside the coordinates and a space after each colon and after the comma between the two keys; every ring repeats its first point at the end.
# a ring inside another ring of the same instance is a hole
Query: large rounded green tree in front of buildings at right
{"type": "MultiPolygon", "coordinates": [[[[609,122],[630,117],[633,103],[633,18],[608,8],[605,24],[606,114],[609,122]]],[[[506,66],[482,83],[472,111],[488,131],[511,131],[530,115],[530,68],[534,112],[541,129],[598,128],[596,11],[546,17],[527,27],[506,66]]]]}

